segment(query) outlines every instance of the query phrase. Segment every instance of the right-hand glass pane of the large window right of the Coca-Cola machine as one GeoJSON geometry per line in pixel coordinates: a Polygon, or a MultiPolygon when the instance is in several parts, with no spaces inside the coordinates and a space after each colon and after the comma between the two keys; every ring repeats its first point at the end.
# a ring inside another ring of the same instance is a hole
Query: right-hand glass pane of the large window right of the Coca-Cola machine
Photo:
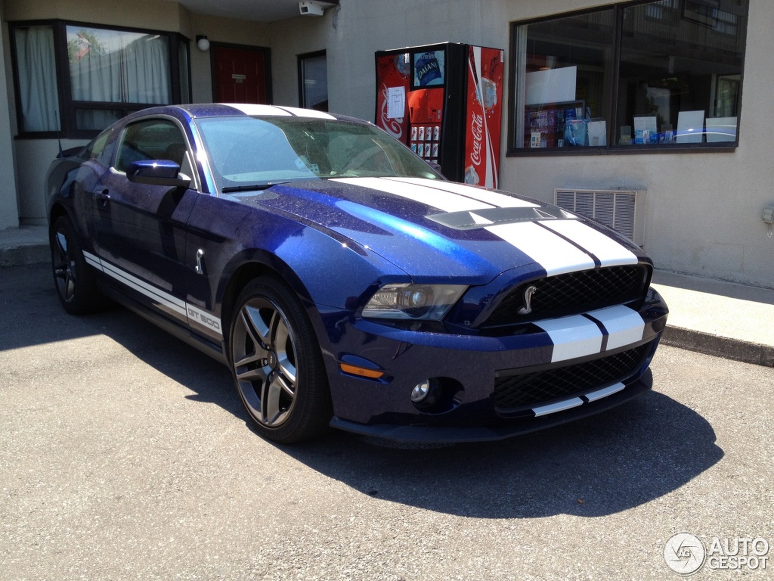
{"type": "Polygon", "coordinates": [[[728,26],[735,15],[701,2],[656,4],[658,19],[649,5],[623,10],[619,143],[735,141],[743,51],[739,27],[728,26]]]}

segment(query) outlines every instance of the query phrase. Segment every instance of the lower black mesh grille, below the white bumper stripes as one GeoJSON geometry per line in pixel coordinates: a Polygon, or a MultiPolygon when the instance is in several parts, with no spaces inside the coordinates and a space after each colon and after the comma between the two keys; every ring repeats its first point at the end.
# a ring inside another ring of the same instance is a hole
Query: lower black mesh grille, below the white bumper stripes
{"type": "Polygon", "coordinates": [[[512,414],[526,407],[587,394],[624,381],[639,370],[650,347],[651,343],[646,343],[576,365],[498,377],[495,379],[495,408],[498,414],[512,414]]]}

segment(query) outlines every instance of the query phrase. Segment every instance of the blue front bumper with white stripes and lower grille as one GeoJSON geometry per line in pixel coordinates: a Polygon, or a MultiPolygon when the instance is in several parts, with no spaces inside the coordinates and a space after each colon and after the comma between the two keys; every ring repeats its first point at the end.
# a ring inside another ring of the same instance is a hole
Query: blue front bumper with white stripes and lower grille
{"type": "Polygon", "coordinates": [[[649,290],[637,311],[616,307],[536,321],[498,337],[339,318],[335,335],[329,334],[335,340],[324,349],[334,404],[330,425],[404,442],[472,442],[595,414],[652,386],[647,368],[667,313],[649,290]],[[339,364],[352,358],[384,375],[374,380],[341,372],[339,364]],[[606,370],[621,358],[625,366],[606,370]],[[446,393],[440,407],[421,409],[409,395],[431,378],[446,393]]]}

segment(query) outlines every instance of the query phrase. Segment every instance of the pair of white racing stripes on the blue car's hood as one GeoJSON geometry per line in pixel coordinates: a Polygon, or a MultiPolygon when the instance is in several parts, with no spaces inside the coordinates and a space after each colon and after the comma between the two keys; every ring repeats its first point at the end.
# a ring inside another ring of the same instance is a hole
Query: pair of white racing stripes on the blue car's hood
{"type": "MultiPolygon", "coordinates": [[[[519,198],[453,182],[392,177],[344,177],[334,178],[333,181],[394,194],[447,212],[539,208],[519,198]]],[[[515,222],[485,226],[485,229],[543,266],[549,277],[594,268],[596,264],[592,256],[601,261],[601,266],[637,263],[637,257],[631,251],[577,219],[543,220],[540,224],[515,222]]]]}

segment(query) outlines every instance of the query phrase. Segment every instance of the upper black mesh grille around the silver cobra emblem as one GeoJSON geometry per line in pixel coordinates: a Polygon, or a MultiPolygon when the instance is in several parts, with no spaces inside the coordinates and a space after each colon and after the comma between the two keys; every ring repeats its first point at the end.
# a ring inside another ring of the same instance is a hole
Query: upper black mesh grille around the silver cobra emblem
{"type": "Polygon", "coordinates": [[[645,297],[649,268],[642,264],[608,266],[527,281],[513,289],[487,318],[484,328],[515,325],[624,304],[645,297]],[[532,311],[519,315],[524,295],[534,286],[532,311]]]}

